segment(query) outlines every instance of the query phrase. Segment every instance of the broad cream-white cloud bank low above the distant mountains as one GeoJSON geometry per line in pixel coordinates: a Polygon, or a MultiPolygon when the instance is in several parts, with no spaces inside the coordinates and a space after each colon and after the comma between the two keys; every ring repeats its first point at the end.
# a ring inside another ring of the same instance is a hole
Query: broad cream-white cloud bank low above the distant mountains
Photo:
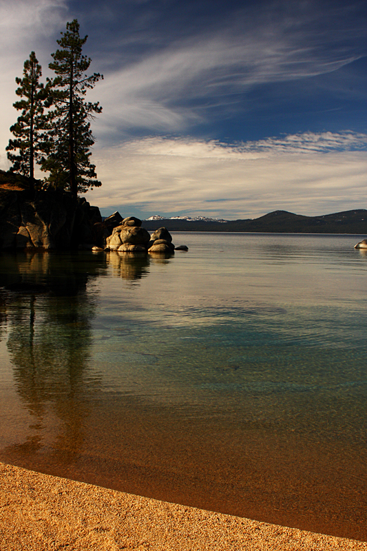
{"type": "Polygon", "coordinates": [[[297,214],[365,207],[366,134],[299,134],[225,145],[143,138],[94,153],[103,186],[88,200],[149,214],[255,218],[276,209],[297,214]],[[326,152],[327,151],[327,152],[326,152]]]}

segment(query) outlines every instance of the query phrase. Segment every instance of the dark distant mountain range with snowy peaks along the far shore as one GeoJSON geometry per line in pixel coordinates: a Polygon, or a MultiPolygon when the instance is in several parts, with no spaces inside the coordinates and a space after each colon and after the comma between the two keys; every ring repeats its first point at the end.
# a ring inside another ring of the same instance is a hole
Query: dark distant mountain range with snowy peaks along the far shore
{"type": "MultiPolygon", "coordinates": [[[[154,217],[151,217],[154,218],[154,217]]],[[[302,216],[287,211],[273,211],[260,218],[247,220],[194,218],[154,218],[145,220],[143,226],[154,231],[165,226],[169,231],[247,231],[260,233],[363,233],[367,235],[367,210],[325,214],[323,216],[302,216]]]]}

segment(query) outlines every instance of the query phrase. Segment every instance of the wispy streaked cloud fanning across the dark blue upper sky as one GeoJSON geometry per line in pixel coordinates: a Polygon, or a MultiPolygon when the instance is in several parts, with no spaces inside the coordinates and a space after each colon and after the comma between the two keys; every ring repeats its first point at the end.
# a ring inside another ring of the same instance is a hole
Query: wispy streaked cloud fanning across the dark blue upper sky
{"type": "Polygon", "coordinates": [[[104,106],[97,133],[105,139],[138,128],[184,131],[202,122],[213,105],[217,115],[233,101],[246,110],[243,94],[253,87],[330,73],[366,54],[364,24],[354,21],[353,32],[348,27],[351,8],[307,6],[285,8],[281,16],[277,3],[261,15],[239,10],[220,25],[149,49],[133,63],[123,57],[95,91],[104,106]]]}

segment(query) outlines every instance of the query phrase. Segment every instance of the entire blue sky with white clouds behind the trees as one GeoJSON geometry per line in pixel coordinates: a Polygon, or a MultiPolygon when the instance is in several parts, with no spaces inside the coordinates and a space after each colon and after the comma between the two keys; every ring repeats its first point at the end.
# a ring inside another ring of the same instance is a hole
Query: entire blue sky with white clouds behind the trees
{"type": "MultiPolygon", "coordinates": [[[[85,195],[103,215],[235,220],[366,208],[367,4],[313,0],[0,0],[0,168],[15,77],[78,19],[90,71],[85,195]]],[[[44,174],[41,173],[41,177],[44,174]]]]}

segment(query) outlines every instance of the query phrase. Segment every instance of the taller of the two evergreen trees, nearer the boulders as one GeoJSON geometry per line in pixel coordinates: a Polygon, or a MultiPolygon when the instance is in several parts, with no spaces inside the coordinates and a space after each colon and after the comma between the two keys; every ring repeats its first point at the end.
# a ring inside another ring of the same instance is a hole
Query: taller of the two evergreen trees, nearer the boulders
{"type": "Polygon", "coordinates": [[[50,112],[52,152],[44,160],[42,170],[50,171],[48,182],[69,187],[76,196],[78,191],[101,185],[96,180],[96,167],[90,163],[90,147],[94,144],[90,120],[101,113],[102,107],[86,102],[85,94],[103,76],[85,74],[92,60],[82,54],[87,36],[79,36],[78,21],[67,23],[61,34],[57,41],[61,49],[52,54],[54,61],[49,65],[56,73],[53,80],[48,79],[54,105],[50,112]]]}

